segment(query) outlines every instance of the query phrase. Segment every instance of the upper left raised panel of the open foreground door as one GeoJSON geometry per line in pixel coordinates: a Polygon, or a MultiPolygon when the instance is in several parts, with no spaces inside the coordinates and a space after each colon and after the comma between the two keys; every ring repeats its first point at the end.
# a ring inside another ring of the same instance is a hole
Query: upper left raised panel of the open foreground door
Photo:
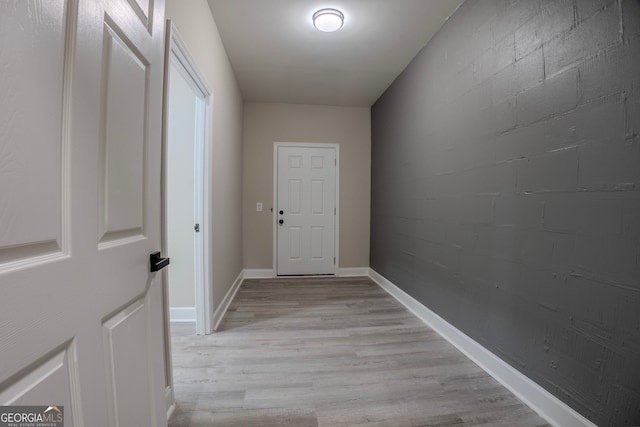
{"type": "MultiPolygon", "coordinates": [[[[0,99],[0,116],[7,121],[0,122],[9,130],[0,147],[0,273],[69,254],[69,127],[77,16],[76,1],[43,4],[39,13],[47,17],[49,28],[55,28],[52,37],[50,32],[37,31],[35,21],[24,19],[32,13],[27,2],[6,6],[8,10],[0,10],[9,14],[6,22],[20,25],[20,31],[30,37],[11,39],[0,49],[7,87],[0,99]],[[38,77],[25,81],[24,67],[38,77]],[[44,87],[46,97],[41,93],[44,87]],[[24,92],[38,102],[23,107],[17,101],[24,92]],[[30,154],[34,151],[39,153],[37,158],[30,154]],[[21,214],[27,210],[30,215],[21,214]]],[[[7,34],[10,28],[5,29],[7,34]]]]}

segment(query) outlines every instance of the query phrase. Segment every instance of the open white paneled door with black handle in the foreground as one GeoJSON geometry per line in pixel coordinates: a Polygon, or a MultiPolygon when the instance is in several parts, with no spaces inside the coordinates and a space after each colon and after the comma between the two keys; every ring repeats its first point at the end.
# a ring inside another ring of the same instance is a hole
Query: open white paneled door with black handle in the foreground
{"type": "Polygon", "coordinates": [[[0,405],[166,425],[162,0],[0,2],[0,405]]]}

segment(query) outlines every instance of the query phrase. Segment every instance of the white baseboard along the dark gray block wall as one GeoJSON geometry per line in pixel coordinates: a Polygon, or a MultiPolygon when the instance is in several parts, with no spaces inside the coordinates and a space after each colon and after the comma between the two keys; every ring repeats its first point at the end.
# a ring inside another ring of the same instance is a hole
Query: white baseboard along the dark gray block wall
{"type": "Polygon", "coordinates": [[[549,424],[556,427],[596,427],[595,424],[560,399],[469,338],[371,268],[369,269],[369,277],[409,311],[418,316],[431,329],[453,344],[527,406],[536,411],[549,424]]]}

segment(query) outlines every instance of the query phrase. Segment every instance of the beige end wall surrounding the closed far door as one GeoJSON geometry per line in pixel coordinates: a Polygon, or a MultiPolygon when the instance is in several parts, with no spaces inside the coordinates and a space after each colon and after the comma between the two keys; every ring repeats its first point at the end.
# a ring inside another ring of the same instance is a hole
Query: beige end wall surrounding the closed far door
{"type": "Polygon", "coordinates": [[[243,137],[243,263],[273,268],[273,143],[340,144],[340,268],[369,266],[370,109],[247,102],[243,137]],[[256,212],[256,203],[264,204],[256,212]]]}

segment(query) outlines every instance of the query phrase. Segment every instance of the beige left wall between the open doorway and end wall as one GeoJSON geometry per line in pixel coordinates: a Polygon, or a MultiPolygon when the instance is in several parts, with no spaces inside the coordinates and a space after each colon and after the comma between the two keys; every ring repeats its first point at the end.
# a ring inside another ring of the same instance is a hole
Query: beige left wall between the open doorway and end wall
{"type": "Polygon", "coordinates": [[[242,270],[242,96],[206,0],[167,0],[166,17],[173,21],[213,91],[207,161],[212,172],[209,210],[215,310],[242,270]]]}

